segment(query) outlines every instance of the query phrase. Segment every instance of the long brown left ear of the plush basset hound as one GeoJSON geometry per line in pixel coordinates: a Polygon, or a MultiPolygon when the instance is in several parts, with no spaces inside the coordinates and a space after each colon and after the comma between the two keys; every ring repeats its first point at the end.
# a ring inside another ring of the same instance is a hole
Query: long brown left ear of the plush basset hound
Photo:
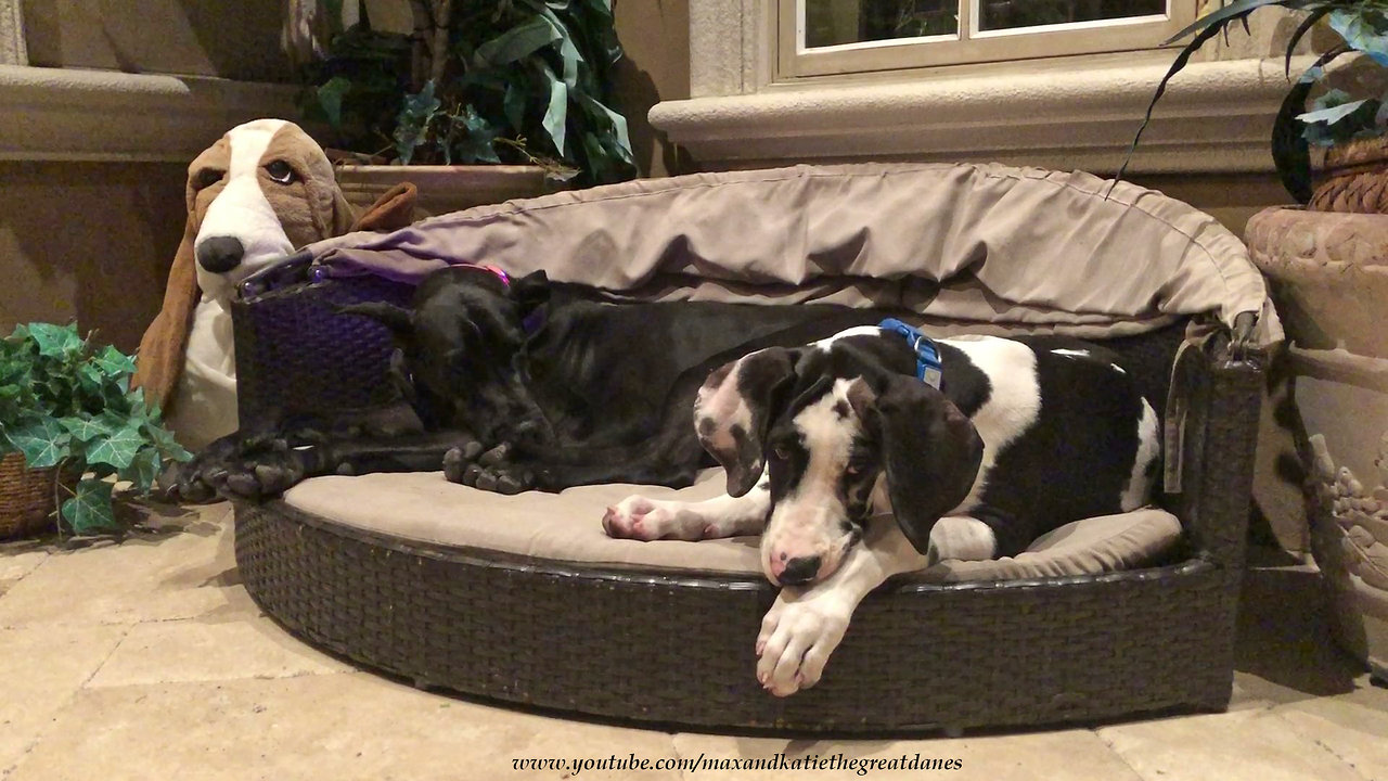
{"type": "Polygon", "coordinates": [[[193,242],[197,239],[197,221],[189,210],[183,227],[183,240],[174,253],[169,267],[169,281],[164,288],[164,306],[140,336],[139,360],[135,364],[132,388],[144,389],[144,400],[158,404],[168,413],[174,388],[183,372],[183,357],[187,352],[187,335],[193,327],[193,311],[197,309],[197,258],[193,256],[193,242]]]}

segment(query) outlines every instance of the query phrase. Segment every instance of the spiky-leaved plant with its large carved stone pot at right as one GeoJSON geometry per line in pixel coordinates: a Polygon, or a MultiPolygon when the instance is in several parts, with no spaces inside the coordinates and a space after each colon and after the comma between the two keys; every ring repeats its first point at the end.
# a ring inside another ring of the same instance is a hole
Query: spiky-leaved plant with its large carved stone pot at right
{"type": "MultiPolygon", "coordinates": [[[[1342,648],[1388,682],[1388,331],[1382,328],[1388,320],[1388,1],[1230,3],[1176,36],[1191,39],[1152,103],[1196,49],[1266,6],[1305,13],[1287,49],[1288,90],[1274,121],[1271,151],[1283,185],[1307,206],[1253,215],[1245,239],[1287,328],[1285,364],[1278,374],[1289,378],[1289,388],[1278,392],[1291,393],[1295,414],[1280,420],[1291,422],[1296,438],[1310,553],[1323,573],[1331,627],[1342,648]],[[1324,51],[1292,81],[1292,50],[1321,22],[1335,35],[1327,36],[1332,40],[1321,46],[1324,51]],[[1344,56],[1355,58],[1349,68],[1328,72],[1327,64],[1344,56]],[[1353,90],[1331,83],[1355,69],[1370,78],[1359,79],[1353,90]],[[1314,182],[1313,147],[1326,149],[1314,182]],[[1371,475],[1384,482],[1373,486],[1371,475]]],[[[1151,114],[1149,106],[1148,120],[1151,114]]]]}

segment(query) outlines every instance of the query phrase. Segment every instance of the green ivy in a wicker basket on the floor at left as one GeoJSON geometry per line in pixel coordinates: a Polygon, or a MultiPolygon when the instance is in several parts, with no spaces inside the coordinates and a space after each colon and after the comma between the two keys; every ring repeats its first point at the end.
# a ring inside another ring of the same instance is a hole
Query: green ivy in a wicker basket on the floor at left
{"type": "Polygon", "coordinates": [[[149,493],[168,460],[189,457],[130,390],[133,371],[75,325],[32,322],[0,339],[0,536],[31,531],[54,506],[60,531],[119,528],[110,478],[149,493]]]}

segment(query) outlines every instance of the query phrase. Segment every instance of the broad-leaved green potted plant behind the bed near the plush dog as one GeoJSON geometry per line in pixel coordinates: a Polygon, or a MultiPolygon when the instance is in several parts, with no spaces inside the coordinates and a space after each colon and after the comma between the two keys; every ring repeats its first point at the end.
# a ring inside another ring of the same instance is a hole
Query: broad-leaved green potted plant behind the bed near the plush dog
{"type": "Polygon", "coordinates": [[[482,203],[537,195],[505,192],[508,181],[543,190],[636,175],[626,120],[609,107],[622,57],[611,0],[376,0],[350,26],[329,17],[339,26],[305,69],[308,120],[358,161],[411,165],[343,171],[348,199],[364,174],[409,178],[428,211],[443,188],[482,203]],[[405,6],[408,33],[373,26],[373,11],[400,17],[405,6]],[[457,170],[421,165],[491,168],[459,182],[457,170]]]}

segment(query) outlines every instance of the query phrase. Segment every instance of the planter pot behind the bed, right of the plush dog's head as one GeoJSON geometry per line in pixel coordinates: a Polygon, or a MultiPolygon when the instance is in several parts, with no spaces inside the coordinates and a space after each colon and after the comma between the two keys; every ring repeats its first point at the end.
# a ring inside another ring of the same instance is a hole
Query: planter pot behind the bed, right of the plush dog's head
{"type": "Polygon", "coordinates": [[[539,165],[337,165],[337,186],[355,207],[371,206],[397,182],[419,188],[425,217],[562,189],[539,165]]]}

